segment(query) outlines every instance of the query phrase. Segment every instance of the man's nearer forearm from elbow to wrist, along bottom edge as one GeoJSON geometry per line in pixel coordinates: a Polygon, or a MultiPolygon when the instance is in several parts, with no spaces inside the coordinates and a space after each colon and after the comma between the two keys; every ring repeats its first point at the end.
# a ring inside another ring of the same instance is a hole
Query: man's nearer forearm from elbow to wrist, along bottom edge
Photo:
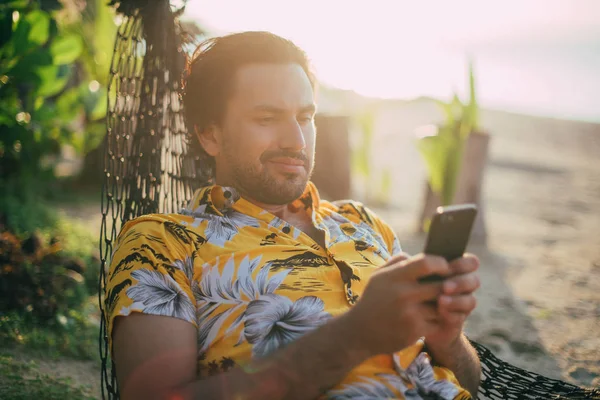
{"type": "Polygon", "coordinates": [[[170,395],[184,399],[314,399],[369,354],[346,316],[335,318],[246,368],[193,382],[170,395]]]}

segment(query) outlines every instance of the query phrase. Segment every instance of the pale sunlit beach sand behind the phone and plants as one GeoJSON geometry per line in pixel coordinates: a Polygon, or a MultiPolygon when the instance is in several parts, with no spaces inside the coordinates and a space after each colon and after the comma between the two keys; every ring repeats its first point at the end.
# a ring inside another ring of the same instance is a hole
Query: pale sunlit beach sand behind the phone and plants
{"type": "MultiPolygon", "coordinates": [[[[377,208],[409,253],[423,201],[414,128],[429,102],[390,102],[376,128],[378,168],[391,168],[393,206],[377,208]]],[[[484,183],[488,243],[478,307],[466,332],[525,369],[600,386],[600,125],[482,113],[492,135],[484,183]]]]}

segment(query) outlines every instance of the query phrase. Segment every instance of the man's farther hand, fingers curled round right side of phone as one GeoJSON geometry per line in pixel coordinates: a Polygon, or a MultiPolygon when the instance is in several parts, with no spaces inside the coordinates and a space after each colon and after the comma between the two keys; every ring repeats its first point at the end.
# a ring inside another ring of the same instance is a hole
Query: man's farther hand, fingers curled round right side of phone
{"type": "Polygon", "coordinates": [[[434,352],[451,347],[460,338],[464,322],[476,306],[474,292],[480,286],[478,268],[479,260],[471,254],[450,263],[451,277],[443,282],[437,299],[437,329],[425,335],[427,347],[434,352]]]}

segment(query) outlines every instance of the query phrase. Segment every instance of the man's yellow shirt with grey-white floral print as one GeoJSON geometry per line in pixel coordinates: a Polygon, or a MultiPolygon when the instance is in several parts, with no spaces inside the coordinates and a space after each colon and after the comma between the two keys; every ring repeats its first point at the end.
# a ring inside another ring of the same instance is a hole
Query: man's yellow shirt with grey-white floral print
{"type": "MultiPolygon", "coordinates": [[[[311,216],[326,248],[220,186],[198,190],[180,214],[128,222],[108,272],[109,337],[114,318],[132,312],[188,321],[198,330],[202,379],[347,312],[371,274],[400,252],[398,240],[362,204],[323,201],[312,183],[292,207],[311,216]]],[[[423,347],[365,361],[322,398],[469,399],[423,347]]]]}

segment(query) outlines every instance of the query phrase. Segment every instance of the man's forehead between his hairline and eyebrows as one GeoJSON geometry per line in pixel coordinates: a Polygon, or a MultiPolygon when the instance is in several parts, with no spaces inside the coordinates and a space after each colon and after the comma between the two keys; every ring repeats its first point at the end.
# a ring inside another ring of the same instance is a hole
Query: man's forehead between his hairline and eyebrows
{"type": "Polygon", "coordinates": [[[314,103],[313,88],[298,64],[249,64],[235,74],[231,103],[294,110],[314,103]]]}

